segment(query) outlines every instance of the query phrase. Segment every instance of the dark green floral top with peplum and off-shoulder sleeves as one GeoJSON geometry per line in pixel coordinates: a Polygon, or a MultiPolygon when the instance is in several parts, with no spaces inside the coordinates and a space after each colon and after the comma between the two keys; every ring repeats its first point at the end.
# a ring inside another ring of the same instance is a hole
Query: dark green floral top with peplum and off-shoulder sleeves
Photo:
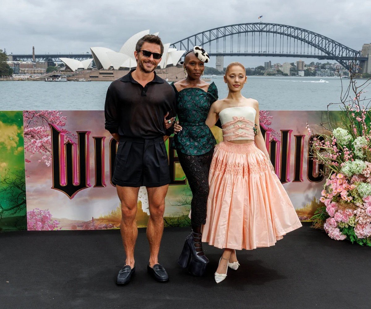
{"type": "Polygon", "coordinates": [[[216,140],[205,124],[212,103],[218,99],[218,89],[213,83],[209,89],[184,88],[177,91],[177,116],[182,131],[174,135],[171,148],[187,155],[202,155],[214,148],[216,140]]]}

